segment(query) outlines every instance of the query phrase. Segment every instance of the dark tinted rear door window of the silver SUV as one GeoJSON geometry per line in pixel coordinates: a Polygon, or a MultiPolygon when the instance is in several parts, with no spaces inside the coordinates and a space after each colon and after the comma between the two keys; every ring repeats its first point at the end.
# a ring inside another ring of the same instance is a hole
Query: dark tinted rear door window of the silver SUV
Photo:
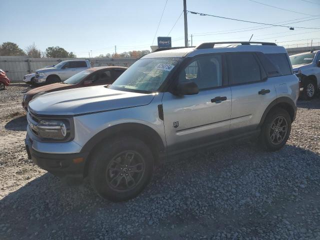
{"type": "Polygon", "coordinates": [[[228,54],[228,68],[231,73],[230,84],[261,80],[260,67],[252,53],[228,54]]]}

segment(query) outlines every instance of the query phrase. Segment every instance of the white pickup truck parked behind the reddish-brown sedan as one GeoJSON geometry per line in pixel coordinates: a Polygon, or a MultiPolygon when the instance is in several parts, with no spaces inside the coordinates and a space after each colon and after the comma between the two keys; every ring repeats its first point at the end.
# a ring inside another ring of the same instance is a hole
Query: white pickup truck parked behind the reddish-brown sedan
{"type": "Polygon", "coordinates": [[[65,60],[55,66],[44,67],[35,71],[35,84],[51,84],[64,81],[74,74],[90,68],[88,60],[65,60]]]}

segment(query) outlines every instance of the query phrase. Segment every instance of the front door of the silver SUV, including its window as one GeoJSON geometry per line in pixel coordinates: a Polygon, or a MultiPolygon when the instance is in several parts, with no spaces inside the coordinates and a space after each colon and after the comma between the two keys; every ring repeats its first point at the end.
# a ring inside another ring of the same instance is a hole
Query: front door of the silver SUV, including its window
{"type": "Polygon", "coordinates": [[[178,82],[194,81],[199,92],[162,97],[164,130],[169,153],[191,150],[228,136],[231,90],[225,85],[221,54],[195,57],[178,76],[178,82]],[[225,86],[224,86],[225,85],[225,86]]]}

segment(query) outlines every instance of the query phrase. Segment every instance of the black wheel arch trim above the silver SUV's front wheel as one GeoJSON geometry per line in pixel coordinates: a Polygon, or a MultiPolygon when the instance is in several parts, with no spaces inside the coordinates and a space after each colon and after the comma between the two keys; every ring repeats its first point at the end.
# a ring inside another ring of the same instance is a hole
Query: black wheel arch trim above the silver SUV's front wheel
{"type": "Polygon", "coordinates": [[[91,161],[91,156],[95,148],[98,147],[99,143],[118,136],[133,136],[142,140],[147,146],[150,147],[156,163],[159,163],[161,157],[164,156],[164,143],[154,129],[142,123],[120,123],[101,130],[84,144],[81,152],[89,152],[84,164],[84,177],[88,174],[88,166],[91,161]]]}

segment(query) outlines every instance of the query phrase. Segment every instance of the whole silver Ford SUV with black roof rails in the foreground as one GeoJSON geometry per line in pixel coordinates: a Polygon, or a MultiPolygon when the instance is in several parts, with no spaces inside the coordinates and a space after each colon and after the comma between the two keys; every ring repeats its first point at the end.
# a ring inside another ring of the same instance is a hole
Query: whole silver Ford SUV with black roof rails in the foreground
{"type": "Polygon", "coordinates": [[[157,49],[110,86],[30,101],[26,149],[67,182],[88,176],[100,196],[127,200],[146,186],[154,164],[182,152],[255,138],[280,149],[298,93],[287,52],[274,43],[157,49]]]}

